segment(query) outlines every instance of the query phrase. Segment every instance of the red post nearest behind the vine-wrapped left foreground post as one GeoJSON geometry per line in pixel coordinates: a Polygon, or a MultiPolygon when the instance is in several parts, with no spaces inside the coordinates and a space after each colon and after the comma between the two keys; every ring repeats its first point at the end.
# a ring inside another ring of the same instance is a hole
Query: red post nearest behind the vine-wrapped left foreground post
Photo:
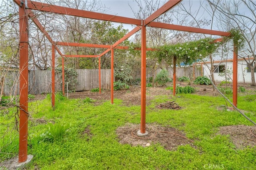
{"type": "Polygon", "coordinates": [[[52,45],[52,109],[55,109],[55,45],[52,45]]]}

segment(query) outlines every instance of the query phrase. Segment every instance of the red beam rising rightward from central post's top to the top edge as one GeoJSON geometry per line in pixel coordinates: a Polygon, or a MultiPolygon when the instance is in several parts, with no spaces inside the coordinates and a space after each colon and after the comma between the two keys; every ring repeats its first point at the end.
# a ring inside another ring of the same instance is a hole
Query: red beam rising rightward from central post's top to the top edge
{"type": "Polygon", "coordinates": [[[182,0],[169,0],[166,2],[162,7],[160,7],[156,12],[151,14],[146,20],[145,25],[148,25],[150,22],[158,18],[160,15],[164,14],[174,6],[176,6],[178,3],[180,3],[182,0]]]}

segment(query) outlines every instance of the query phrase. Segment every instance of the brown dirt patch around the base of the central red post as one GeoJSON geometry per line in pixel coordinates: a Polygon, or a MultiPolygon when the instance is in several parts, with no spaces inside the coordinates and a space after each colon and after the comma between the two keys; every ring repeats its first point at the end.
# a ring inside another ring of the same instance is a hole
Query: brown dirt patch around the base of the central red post
{"type": "Polygon", "coordinates": [[[142,147],[150,146],[154,143],[160,143],[166,150],[175,150],[178,146],[190,145],[194,147],[193,141],[187,139],[182,131],[178,131],[172,127],[161,127],[159,125],[147,125],[146,137],[138,137],[137,131],[140,125],[127,124],[124,127],[118,127],[116,133],[119,142],[122,144],[130,144],[132,146],[140,145],[142,147]]]}

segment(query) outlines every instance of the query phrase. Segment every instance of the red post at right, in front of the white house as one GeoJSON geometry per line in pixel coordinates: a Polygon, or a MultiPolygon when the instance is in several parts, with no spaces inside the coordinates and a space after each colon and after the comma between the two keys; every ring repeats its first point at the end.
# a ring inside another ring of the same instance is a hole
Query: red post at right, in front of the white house
{"type": "Polygon", "coordinates": [[[237,107],[237,60],[238,60],[238,49],[237,41],[234,41],[234,52],[233,52],[233,104],[237,107]]]}

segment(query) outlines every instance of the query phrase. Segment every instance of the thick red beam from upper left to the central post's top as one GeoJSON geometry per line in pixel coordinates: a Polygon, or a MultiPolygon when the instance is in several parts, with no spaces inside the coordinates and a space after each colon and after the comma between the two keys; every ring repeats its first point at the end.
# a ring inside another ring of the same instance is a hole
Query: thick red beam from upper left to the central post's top
{"type": "MultiPolygon", "coordinates": [[[[18,1],[18,0],[15,0],[18,1]]],[[[52,4],[44,4],[42,2],[35,2],[28,0],[28,9],[31,10],[38,10],[43,12],[50,12],[55,14],[63,14],[69,16],[77,16],[82,18],[90,18],[95,20],[103,20],[103,21],[112,21],[118,23],[128,23],[134,25],[141,25],[141,20],[134,19],[134,18],[127,18],[109,14],[102,14],[98,12],[91,12],[86,10],[78,10],[73,8],[67,8],[63,6],[56,6],[52,4]]]]}

